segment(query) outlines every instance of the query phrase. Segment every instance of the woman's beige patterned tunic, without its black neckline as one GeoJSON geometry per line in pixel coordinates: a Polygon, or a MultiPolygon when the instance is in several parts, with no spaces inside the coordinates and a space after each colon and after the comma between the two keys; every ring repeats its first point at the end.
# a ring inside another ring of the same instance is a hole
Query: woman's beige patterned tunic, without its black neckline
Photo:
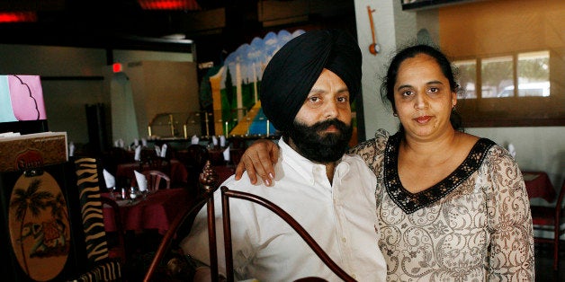
{"type": "Polygon", "coordinates": [[[399,181],[399,140],[380,129],[351,150],[377,175],[387,280],[534,281],[530,202],[512,156],[481,138],[444,181],[412,194],[399,181]]]}

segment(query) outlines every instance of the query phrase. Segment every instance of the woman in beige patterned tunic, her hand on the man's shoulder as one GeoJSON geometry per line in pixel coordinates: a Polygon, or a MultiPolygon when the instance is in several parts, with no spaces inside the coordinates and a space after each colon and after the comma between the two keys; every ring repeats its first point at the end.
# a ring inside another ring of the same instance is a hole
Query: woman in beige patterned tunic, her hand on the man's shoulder
{"type": "MultiPolygon", "coordinates": [[[[459,90],[441,51],[426,45],[401,50],[381,87],[399,131],[390,136],[379,129],[351,149],[377,175],[387,280],[534,281],[522,174],[503,147],[460,130],[454,111],[459,90]]],[[[274,172],[266,152],[277,148],[266,142],[252,147],[265,168],[252,168],[244,156],[238,172],[245,164],[248,174],[254,170],[265,180],[274,172]]]]}

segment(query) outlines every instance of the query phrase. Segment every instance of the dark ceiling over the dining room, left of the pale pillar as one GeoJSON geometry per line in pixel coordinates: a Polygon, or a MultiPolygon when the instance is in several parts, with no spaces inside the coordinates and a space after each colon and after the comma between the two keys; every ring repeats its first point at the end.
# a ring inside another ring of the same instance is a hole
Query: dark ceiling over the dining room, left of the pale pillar
{"type": "Polygon", "coordinates": [[[32,10],[37,22],[0,23],[0,43],[187,51],[162,40],[185,34],[205,60],[215,56],[207,52],[231,52],[268,31],[355,31],[354,0],[195,1],[198,11],[147,11],[137,0],[3,0],[0,12],[32,10]]]}

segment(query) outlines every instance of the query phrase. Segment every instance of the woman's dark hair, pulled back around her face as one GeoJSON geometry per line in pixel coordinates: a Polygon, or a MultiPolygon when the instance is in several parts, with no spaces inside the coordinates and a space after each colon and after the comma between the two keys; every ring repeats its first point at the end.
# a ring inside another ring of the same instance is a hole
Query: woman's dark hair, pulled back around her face
{"type": "MultiPolygon", "coordinates": [[[[404,62],[407,58],[416,57],[418,54],[426,54],[427,56],[435,59],[435,62],[437,62],[442,73],[449,81],[449,87],[452,92],[457,93],[462,90],[461,86],[455,82],[451,62],[447,57],[445,57],[444,53],[442,53],[439,48],[425,44],[418,44],[408,48],[403,48],[390,61],[387,75],[384,77],[381,84],[381,99],[383,102],[388,101],[388,103],[390,103],[393,112],[396,112],[396,106],[394,105],[394,84],[396,84],[397,76],[399,75],[400,64],[402,64],[402,62],[404,62]]],[[[462,118],[457,111],[452,110],[452,114],[449,119],[455,130],[463,131],[462,118]]],[[[402,124],[400,124],[399,131],[404,131],[402,124]]]]}

